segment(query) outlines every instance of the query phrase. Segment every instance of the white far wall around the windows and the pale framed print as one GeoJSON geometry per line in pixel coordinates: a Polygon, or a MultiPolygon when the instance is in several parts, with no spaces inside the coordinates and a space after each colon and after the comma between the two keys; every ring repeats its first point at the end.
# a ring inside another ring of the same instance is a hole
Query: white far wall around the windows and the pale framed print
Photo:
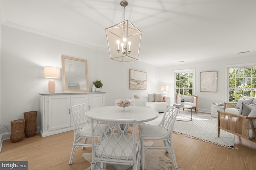
{"type": "Polygon", "coordinates": [[[166,80],[165,84],[169,85],[170,91],[168,92],[168,96],[171,97],[172,102],[175,99],[175,70],[182,70],[182,69],[195,69],[195,93],[194,95],[198,95],[198,110],[210,113],[211,112],[211,105],[212,103],[218,102],[227,102],[227,87],[225,83],[227,81],[227,77],[225,77],[225,70],[226,65],[243,65],[251,63],[251,65],[256,65],[256,57],[255,55],[244,55],[244,54],[237,54],[234,56],[230,56],[228,59],[221,59],[212,60],[212,61],[203,61],[197,63],[190,63],[190,64],[181,64],[181,65],[172,65],[168,67],[160,67],[159,70],[159,79],[166,80]],[[200,92],[200,72],[204,71],[218,71],[217,72],[217,92],[200,92]]]}

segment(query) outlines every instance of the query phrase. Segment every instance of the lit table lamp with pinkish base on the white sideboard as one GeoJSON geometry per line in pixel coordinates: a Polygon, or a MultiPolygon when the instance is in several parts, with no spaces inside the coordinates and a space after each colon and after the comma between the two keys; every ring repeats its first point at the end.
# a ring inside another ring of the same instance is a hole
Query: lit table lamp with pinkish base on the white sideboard
{"type": "Polygon", "coordinates": [[[46,66],[44,67],[44,77],[45,78],[51,78],[48,83],[48,91],[49,93],[55,92],[55,81],[54,79],[60,78],[60,68],[58,67],[50,67],[46,66]]]}

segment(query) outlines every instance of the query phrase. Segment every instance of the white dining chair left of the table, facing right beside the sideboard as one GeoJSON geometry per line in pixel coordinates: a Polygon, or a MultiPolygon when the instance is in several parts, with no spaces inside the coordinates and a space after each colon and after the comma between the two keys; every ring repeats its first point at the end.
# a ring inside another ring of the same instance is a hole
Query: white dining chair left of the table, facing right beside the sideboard
{"type": "MultiPolygon", "coordinates": [[[[72,120],[74,124],[74,142],[71,150],[69,165],[73,162],[74,152],[76,147],[92,147],[92,144],[87,143],[87,139],[92,137],[92,127],[89,119],[86,118],[86,104],[79,104],[70,107],[72,120]],[[81,140],[84,139],[84,142],[81,140]]],[[[96,132],[101,133],[101,128],[97,128],[96,132]]]]}

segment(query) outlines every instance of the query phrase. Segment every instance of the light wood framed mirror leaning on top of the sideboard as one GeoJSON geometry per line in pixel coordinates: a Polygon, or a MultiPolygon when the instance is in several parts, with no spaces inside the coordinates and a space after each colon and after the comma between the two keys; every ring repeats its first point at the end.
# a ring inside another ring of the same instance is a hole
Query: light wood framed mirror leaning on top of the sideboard
{"type": "Polygon", "coordinates": [[[87,60],[61,56],[62,59],[62,91],[88,92],[87,60]]]}

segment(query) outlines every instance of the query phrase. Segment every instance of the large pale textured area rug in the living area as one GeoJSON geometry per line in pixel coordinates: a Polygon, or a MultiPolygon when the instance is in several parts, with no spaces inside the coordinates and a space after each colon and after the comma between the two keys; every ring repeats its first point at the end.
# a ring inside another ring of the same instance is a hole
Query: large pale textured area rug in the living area
{"type": "MultiPolygon", "coordinates": [[[[157,119],[146,122],[148,125],[159,125],[164,113],[159,113],[157,119]]],[[[180,110],[180,116],[177,116],[174,123],[174,132],[177,134],[185,134],[190,138],[202,140],[213,144],[218,144],[227,148],[236,148],[234,146],[235,135],[225,130],[220,129],[220,137],[218,138],[218,119],[211,117],[206,113],[192,113],[192,121],[177,121],[189,120],[191,117],[190,111],[180,110]]]]}

